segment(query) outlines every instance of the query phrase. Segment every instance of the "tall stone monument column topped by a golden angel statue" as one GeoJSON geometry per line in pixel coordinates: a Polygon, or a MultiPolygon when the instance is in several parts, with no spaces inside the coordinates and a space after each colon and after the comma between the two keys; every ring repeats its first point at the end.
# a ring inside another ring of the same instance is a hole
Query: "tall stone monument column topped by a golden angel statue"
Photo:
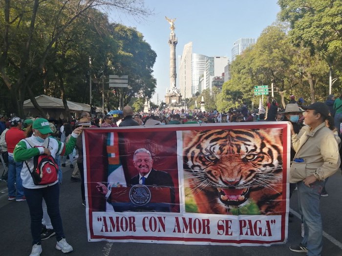
{"type": "Polygon", "coordinates": [[[180,90],[176,87],[176,45],[177,38],[174,34],[174,21],[176,19],[169,19],[165,16],[165,19],[170,23],[170,37],[169,37],[169,45],[170,45],[170,87],[166,91],[165,95],[165,103],[169,106],[177,106],[182,102],[182,95],[180,94],[180,90]]]}

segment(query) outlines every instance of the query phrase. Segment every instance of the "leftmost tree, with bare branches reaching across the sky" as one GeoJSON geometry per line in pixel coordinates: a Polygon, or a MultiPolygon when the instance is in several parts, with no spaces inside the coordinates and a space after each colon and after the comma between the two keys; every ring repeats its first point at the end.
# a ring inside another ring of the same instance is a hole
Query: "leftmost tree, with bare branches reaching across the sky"
{"type": "Polygon", "coordinates": [[[0,76],[9,90],[12,106],[21,117],[22,104],[29,94],[37,109],[33,87],[42,86],[44,66],[55,59],[58,40],[66,28],[92,8],[111,7],[132,15],[150,14],[143,1],[130,0],[5,0],[0,18],[0,76]]]}

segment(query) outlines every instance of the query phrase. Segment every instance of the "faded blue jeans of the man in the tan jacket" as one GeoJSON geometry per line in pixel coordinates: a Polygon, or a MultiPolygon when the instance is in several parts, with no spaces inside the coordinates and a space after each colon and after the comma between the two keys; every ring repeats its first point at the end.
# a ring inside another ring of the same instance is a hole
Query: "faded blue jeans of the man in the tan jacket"
{"type": "Polygon", "coordinates": [[[297,183],[299,212],[304,223],[304,237],[301,244],[307,247],[307,256],[321,256],[323,248],[323,229],[319,209],[323,185],[322,180],[317,180],[310,187],[303,181],[297,183]]]}

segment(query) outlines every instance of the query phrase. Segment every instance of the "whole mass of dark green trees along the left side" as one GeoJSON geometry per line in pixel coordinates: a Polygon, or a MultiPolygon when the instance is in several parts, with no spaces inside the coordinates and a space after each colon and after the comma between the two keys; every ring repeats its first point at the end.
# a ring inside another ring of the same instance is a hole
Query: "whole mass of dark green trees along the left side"
{"type": "Polygon", "coordinates": [[[42,110],[34,99],[40,94],[61,97],[66,108],[67,99],[89,102],[89,79],[91,101],[101,105],[102,76],[120,75],[123,68],[129,88],[106,86],[107,106],[118,107],[118,96],[124,103],[135,95],[151,97],[155,52],[135,28],[110,23],[102,7],[150,14],[142,0],[1,0],[0,89],[6,100],[0,108],[23,117],[27,98],[42,110]]]}

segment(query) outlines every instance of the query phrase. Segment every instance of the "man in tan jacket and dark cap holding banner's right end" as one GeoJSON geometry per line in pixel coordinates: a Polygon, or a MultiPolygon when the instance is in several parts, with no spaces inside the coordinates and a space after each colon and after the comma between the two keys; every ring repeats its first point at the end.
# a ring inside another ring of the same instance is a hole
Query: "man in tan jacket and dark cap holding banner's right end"
{"type": "Polygon", "coordinates": [[[320,256],[322,251],[322,221],[319,211],[324,179],[340,167],[339,147],[332,131],[325,126],[328,107],[315,102],[307,107],[305,124],[295,134],[291,126],[291,146],[296,155],[290,167],[290,183],[297,183],[299,212],[304,222],[304,237],[290,250],[320,256]]]}

